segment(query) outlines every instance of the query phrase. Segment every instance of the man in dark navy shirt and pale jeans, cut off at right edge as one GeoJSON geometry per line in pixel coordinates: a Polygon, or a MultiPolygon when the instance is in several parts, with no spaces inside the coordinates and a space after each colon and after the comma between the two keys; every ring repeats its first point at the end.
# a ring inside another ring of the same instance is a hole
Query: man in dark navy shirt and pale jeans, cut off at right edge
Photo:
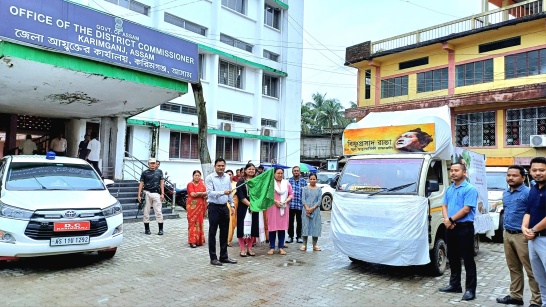
{"type": "Polygon", "coordinates": [[[521,231],[529,240],[529,260],[538,282],[542,306],[546,306],[546,158],[531,160],[531,176],[536,181],[529,191],[521,231]]]}

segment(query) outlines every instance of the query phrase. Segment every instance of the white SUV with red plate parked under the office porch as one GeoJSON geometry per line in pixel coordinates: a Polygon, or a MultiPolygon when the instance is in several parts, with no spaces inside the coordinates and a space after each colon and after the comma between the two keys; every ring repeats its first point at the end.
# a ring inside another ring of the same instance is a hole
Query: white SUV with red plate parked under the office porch
{"type": "Polygon", "coordinates": [[[6,156],[0,162],[0,261],[97,251],[123,241],[120,203],[81,159],[6,156]]]}

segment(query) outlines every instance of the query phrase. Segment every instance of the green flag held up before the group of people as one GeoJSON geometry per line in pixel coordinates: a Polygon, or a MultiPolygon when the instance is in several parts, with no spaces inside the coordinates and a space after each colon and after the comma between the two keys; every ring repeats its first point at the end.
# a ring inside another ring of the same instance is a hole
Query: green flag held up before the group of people
{"type": "Polygon", "coordinates": [[[275,177],[273,168],[247,181],[250,197],[250,211],[259,212],[271,206],[275,201],[275,177]]]}

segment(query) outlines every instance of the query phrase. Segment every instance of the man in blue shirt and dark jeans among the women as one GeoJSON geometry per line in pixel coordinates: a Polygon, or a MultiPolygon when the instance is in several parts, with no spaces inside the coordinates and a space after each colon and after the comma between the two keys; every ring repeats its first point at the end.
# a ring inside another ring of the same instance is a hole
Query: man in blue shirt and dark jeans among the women
{"type": "Polygon", "coordinates": [[[293,177],[288,179],[294,191],[294,199],[290,202],[290,210],[288,210],[288,240],[286,243],[294,242],[294,218],[296,219],[296,240],[298,243],[303,243],[301,238],[301,214],[303,210],[303,203],[301,200],[301,189],[307,186],[307,181],[301,177],[301,171],[299,166],[292,167],[293,177]]]}

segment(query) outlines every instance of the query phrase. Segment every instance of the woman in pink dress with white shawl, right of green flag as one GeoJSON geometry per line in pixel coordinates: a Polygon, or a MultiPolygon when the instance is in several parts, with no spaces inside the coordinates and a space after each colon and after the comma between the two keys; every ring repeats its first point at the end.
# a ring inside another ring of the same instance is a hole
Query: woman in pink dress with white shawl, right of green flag
{"type": "Polygon", "coordinates": [[[284,170],[275,168],[275,201],[273,206],[266,210],[267,229],[269,231],[269,251],[268,255],[275,253],[275,243],[277,235],[279,237],[279,254],[286,255],[284,251],[284,238],[288,229],[288,210],[290,210],[290,201],[294,198],[292,186],[288,180],[283,179],[284,170]]]}

